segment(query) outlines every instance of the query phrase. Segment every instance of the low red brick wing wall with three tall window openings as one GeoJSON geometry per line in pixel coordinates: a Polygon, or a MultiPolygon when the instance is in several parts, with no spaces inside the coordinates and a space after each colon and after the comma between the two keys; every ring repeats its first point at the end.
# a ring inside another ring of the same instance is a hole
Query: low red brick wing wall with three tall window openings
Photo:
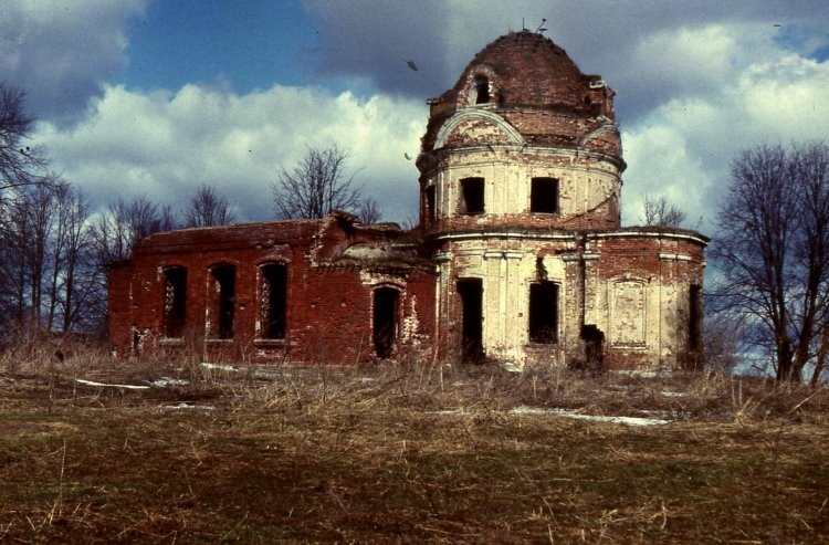
{"type": "Polygon", "coordinates": [[[388,230],[332,217],[153,235],[135,249],[130,263],[111,272],[112,340],[124,356],[165,352],[228,360],[365,361],[375,357],[372,291],[391,286],[399,291],[397,350],[421,349],[434,327],[431,268],[377,259],[338,261],[353,244],[388,248],[390,237],[395,233],[388,230]],[[263,339],[259,331],[259,268],[266,263],[286,266],[284,339],[263,339]],[[211,268],[217,264],[235,268],[233,334],[228,339],[207,333],[214,290],[211,268]],[[175,339],[164,336],[165,270],[171,266],[187,269],[185,331],[175,339]]]}

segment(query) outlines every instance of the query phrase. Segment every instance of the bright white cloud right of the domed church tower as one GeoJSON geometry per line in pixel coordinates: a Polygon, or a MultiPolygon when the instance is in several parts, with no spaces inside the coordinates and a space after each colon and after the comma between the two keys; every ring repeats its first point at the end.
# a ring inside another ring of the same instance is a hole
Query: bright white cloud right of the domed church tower
{"type": "MultiPolygon", "coordinates": [[[[739,51],[739,48],[736,48],[739,51]]],[[[790,53],[748,63],[716,88],[663,104],[622,134],[623,218],[637,223],[641,197],[665,195],[712,229],[732,159],[757,144],[826,139],[829,62],[790,53]]]]}

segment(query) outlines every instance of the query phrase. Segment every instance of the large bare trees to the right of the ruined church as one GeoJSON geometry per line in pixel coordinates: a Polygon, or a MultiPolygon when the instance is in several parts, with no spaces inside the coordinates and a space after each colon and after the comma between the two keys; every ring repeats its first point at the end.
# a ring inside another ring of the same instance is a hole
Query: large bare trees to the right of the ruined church
{"type": "Polygon", "coordinates": [[[732,165],[713,301],[746,316],[778,380],[818,381],[829,352],[829,147],[757,146],[732,165]]]}

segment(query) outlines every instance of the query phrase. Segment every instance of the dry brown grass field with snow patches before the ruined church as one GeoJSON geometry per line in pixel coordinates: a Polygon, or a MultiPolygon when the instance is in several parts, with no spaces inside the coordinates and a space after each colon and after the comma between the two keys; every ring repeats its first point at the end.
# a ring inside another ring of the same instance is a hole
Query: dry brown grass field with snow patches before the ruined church
{"type": "Polygon", "coordinates": [[[0,392],[0,542],[829,542],[826,389],[17,350],[0,392]]]}

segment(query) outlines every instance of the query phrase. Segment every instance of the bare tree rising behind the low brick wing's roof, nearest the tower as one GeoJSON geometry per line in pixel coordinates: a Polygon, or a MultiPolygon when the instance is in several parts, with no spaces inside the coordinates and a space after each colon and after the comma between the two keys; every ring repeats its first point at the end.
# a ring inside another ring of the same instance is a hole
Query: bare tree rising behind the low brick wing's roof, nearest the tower
{"type": "Polygon", "coordinates": [[[354,174],[345,171],[349,155],[339,147],[308,147],[292,170],[283,169],[273,186],[274,211],[280,219],[323,218],[332,210],[353,211],[360,202],[354,174]]]}

